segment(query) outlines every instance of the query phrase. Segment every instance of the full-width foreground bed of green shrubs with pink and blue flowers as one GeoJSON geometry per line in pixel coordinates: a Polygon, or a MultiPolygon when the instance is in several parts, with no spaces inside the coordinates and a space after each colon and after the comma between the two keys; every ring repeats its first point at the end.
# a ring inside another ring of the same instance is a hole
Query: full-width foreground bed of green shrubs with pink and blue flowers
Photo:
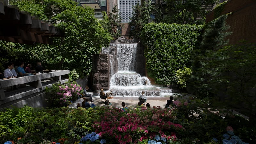
{"type": "Polygon", "coordinates": [[[9,108],[0,112],[0,143],[19,140],[21,143],[52,142],[142,144],[150,141],[171,143],[206,143],[212,138],[221,141],[226,127],[245,142],[255,140],[255,128],[239,116],[221,118],[208,111],[212,107],[198,99],[178,98],[174,108],[9,108]],[[230,129],[230,127],[229,127],[230,129]],[[94,134],[93,134],[94,133],[94,134]],[[96,136],[86,139],[88,136],[96,136]],[[83,137],[83,138],[82,138],[83,137]],[[165,139],[164,139],[165,138],[165,139]]]}

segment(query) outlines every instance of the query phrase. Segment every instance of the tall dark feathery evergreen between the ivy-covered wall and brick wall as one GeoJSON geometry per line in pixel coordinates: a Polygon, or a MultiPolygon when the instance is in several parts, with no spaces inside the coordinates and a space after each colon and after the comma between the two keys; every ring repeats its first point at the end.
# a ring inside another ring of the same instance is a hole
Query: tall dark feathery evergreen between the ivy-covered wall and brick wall
{"type": "Polygon", "coordinates": [[[197,96],[212,96],[217,91],[223,90],[223,85],[218,81],[221,66],[225,56],[217,55],[219,49],[228,44],[225,37],[230,35],[229,26],[226,25],[228,15],[222,15],[213,20],[204,30],[202,42],[192,52],[192,87],[197,96]],[[215,79],[215,78],[217,79],[215,79]],[[222,88],[221,88],[222,87],[222,88]]]}

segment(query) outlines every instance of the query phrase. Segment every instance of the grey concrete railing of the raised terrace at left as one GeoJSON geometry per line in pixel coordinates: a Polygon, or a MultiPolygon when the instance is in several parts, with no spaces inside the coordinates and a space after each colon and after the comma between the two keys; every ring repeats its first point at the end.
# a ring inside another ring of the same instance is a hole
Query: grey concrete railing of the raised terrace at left
{"type": "Polygon", "coordinates": [[[31,98],[35,94],[40,94],[46,87],[50,87],[54,83],[60,82],[63,84],[67,82],[68,79],[62,79],[61,76],[69,73],[69,70],[51,70],[33,76],[0,80],[0,109],[25,100],[28,97],[31,98]],[[18,90],[5,91],[8,87],[22,84],[29,84],[30,86],[25,86],[18,90]]]}

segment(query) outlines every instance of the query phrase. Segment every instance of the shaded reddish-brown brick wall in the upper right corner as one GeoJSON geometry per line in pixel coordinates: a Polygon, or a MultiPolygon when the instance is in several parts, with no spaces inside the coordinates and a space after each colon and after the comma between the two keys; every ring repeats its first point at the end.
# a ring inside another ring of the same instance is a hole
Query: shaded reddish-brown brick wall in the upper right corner
{"type": "MultiPolygon", "coordinates": [[[[255,0],[229,0],[221,13],[230,14],[226,20],[230,25],[229,31],[233,33],[227,37],[229,44],[240,44],[239,40],[246,40],[248,43],[256,42],[256,1],[255,0]]],[[[206,22],[214,19],[214,10],[206,15],[206,22]]]]}

